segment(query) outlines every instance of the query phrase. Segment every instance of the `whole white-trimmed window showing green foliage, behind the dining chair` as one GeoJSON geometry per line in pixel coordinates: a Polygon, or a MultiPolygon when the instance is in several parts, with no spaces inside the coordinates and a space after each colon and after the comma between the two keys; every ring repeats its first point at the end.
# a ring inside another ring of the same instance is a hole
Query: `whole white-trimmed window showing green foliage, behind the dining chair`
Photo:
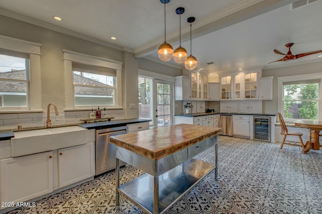
{"type": "Polygon", "coordinates": [[[278,78],[279,112],[286,121],[320,120],[321,75],[278,78]]]}

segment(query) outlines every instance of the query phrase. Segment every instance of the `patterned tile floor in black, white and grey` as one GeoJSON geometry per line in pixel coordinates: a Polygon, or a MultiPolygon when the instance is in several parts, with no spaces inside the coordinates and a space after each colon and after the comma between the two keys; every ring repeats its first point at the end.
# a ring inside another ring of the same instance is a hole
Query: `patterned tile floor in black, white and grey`
{"type": "MultiPolygon", "coordinates": [[[[167,214],[322,213],[322,151],[301,153],[300,146],[219,136],[218,181],[205,177],[167,214]]],[[[213,148],[197,158],[213,162],[213,148]]],[[[121,183],[143,172],[121,170],[121,183]]],[[[116,210],[114,172],[8,213],[144,213],[121,195],[116,210]]]]}

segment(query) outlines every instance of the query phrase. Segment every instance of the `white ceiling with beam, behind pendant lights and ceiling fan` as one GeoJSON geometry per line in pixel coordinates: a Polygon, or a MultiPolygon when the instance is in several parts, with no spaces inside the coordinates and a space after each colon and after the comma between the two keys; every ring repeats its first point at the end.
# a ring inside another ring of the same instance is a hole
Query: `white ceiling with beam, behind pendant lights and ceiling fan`
{"type": "MultiPolygon", "coordinates": [[[[197,69],[221,73],[321,61],[317,56],[322,54],[314,54],[268,64],[283,57],[273,50],[286,53],[287,43],[295,43],[293,54],[322,50],[322,0],[292,10],[293,2],[296,0],[171,0],[166,5],[167,42],[174,49],[179,46],[175,10],[183,7],[181,46],[190,54],[186,20],[195,17],[192,55],[198,60],[197,69]],[[209,62],[214,64],[207,65],[209,62]]],[[[157,47],[165,40],[164,4],[159,0],[0,0],[0,14],[183,68],[157,57],[157,47]],[[54,15],[63,21],[55,21],[54,15]],[[111,40],[112,36],[117,40],[111,40]]]]}

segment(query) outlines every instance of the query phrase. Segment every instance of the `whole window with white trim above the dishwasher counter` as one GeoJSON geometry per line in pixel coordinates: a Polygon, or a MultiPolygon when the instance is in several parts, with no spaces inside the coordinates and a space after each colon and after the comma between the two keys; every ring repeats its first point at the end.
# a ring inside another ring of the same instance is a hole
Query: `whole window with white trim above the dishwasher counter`
{"type": "Polygon", "coordinates": [[[122,62],[62,51],[66,109],[122,108],[122,62]]]}

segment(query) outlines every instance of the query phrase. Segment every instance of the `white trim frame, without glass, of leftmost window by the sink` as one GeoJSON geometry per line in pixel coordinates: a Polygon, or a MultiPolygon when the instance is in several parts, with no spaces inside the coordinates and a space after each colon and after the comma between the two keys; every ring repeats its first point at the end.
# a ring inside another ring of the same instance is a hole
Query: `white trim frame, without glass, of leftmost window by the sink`
{"type": "MultiPolygon", "coordinates": [[[[29,54],[29,98],[27,100],[27,106],[17,107],[2,107],[3,111],[12,110],[42,110],[41,109],[41,81],[40,81],[40,47],[41,44],[33,43],[25,40],[19,40],[16,38],[6,37],[0,35],[0,48],[16,51],[25,54],[29,54]]],[[[28,76],[28,74],[27,74],[28,76]]]]}

